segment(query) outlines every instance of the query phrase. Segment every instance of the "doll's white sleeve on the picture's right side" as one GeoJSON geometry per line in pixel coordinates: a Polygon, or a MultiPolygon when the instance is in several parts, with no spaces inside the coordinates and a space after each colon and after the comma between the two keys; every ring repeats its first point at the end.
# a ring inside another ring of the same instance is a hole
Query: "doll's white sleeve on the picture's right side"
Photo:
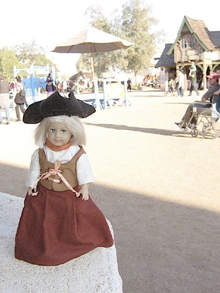
{"type": "Polygon", "coordinates": [[[76,173],[79,185],[94,182],[87,154],[79,157],[76,163],[76,173]]]}

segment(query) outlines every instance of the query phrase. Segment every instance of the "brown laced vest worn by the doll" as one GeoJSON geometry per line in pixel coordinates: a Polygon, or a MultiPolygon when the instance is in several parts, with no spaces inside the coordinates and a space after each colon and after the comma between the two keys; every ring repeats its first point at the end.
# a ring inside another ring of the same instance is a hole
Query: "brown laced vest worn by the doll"
{"type": "MultiPolygon", "coordinates": [[[[85,153],[86,152],[83,149],[83,147],[80,146],[80,150],[75,154],[75,156],[69,162],[61,164],[61,166],[59,167],[59,170],[63,171],[62,175],[64,176],[66,181],[71,185],[72,188],[78,185],[76,175],[76,162],[78,161],[79,157],[85,153]]],[[[54,164],[47,161],[43,148],[39,149],[39,163],[41,167],[41,174],[44,174],[50,168],[54,169],[54,164]]],[[[56,183],[48,179],[43,179],[41,180],[41,184],[44,185],[44,187],[48,189],[53,189],[55,191],[64,191],[69,189],[58,175],[51,175],[50,177],[60,180],[60,183],[56,183]]]]}

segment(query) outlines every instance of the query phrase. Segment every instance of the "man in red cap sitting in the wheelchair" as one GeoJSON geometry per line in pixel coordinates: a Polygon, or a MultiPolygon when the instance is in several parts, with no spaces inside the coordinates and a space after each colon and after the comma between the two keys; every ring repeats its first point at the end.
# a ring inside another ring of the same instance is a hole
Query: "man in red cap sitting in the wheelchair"
{"type": "MultiPolygon", "coordinates": [[[[216,72],[212,72],[210,73],[210,75],[207,75],[206,77],[209,80],[210,86],[208,87],[207,92],[204,93],[204,95],[202,96],[201,101],[212,103],[213,95],[219,94],[220,92],[219,75],[216,72]]],[[[209,107],[209,105],[205,105],[205,107],[209,107]]],[[[193,113],[193,104],[190,104],[182,120],[179,123],[175,122],[175,124],[178,127],[180,127],[182,130],[185,130],[192,117],[192,113],[193,113]]]]}

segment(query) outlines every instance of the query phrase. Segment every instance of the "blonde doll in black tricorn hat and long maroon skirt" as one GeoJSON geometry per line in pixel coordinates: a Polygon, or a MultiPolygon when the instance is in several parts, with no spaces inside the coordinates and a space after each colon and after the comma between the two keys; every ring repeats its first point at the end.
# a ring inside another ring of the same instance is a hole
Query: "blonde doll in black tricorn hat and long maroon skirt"
{"type": "Polygon", "coordinates": [[[72,92],[65,98],[58,91],[25,111],[24,123],[40,123],[34,132],[39,149],[28,171],[16,258],[55,266],[113,245],[105,216],[88,194],[93,178],[82,147],[86,135],[80,118],[94,112],[72,92]]]}

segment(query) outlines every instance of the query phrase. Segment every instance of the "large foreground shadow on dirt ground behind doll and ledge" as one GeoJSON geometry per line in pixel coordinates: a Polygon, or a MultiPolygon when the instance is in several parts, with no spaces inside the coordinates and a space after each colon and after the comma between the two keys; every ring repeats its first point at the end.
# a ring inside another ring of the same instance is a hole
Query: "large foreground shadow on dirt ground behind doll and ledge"
{"type": "MultiPolygon", "coordinates": [[[[0,169],[0,191],[24,197],[27,169],[0,169]]],[[[218,213],[104,185],[90,195],[112,224],[124,293],[220,292],[218,213]]]]}

